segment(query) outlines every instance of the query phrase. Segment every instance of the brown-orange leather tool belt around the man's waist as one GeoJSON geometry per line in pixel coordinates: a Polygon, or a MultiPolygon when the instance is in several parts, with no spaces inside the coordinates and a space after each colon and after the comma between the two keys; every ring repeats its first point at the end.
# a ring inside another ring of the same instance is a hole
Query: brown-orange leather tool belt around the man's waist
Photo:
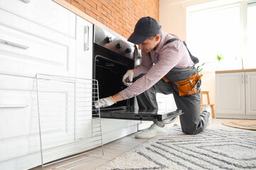
{"type": "MultiPolygon", "coordinates": [[[[198,94],[197,85],[200,84],[200,79],[203,77],[203,74],[198,75],[195,74],[188,79],[184,79],[182,81],[173,82],[171,81],[174,86],[178,88],[178,95],[185,96],[191,94],[198,94]]],[[[169,82],[170,80],[166,77],[163,77],[164,81],[169,82]]]]}

